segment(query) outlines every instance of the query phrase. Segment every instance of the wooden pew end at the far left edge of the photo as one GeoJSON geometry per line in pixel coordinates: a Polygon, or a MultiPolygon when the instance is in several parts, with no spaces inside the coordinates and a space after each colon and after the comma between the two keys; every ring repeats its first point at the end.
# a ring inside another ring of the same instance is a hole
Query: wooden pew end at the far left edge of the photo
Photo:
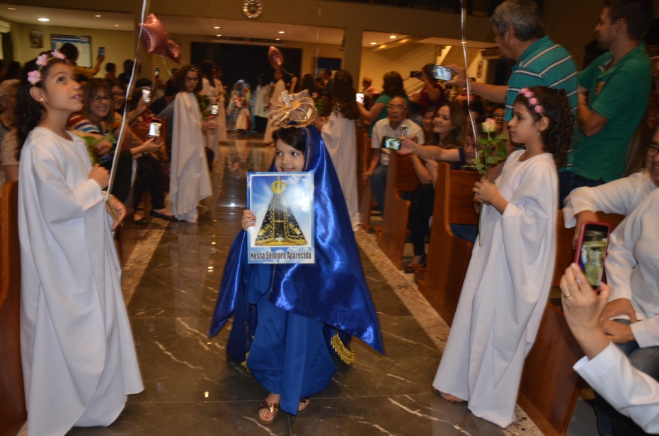
{"type": "Polygon", "coordinates": [[[21,255],[18,182],[0,196],[0,435],[16,435],[27,419],[21,367],[21,255]]]}

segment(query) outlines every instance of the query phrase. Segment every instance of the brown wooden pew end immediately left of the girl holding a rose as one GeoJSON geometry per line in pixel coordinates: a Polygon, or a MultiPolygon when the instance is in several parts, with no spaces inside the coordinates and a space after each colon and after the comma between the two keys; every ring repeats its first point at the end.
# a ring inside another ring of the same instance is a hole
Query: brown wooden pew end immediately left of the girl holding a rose
{"type": "Polygon", "coordinates": [[[480,177],[478,172],[456,171],[448,163],[438,164],[426,268],[416,279],[421,295],[448,325],[453,322],[473,248],[471,242],[454,236],[450,225],[478,225],[472,188],[480,177]]]}

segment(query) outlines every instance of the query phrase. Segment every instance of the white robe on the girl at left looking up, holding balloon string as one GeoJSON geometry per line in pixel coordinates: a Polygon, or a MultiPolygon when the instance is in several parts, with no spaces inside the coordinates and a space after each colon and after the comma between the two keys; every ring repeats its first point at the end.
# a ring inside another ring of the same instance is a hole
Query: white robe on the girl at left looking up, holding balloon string
{"type": "MultiPolygon", "coordinates": [[[[73,136],[73,135],[72,135],[73,136]]],[[[30,435],[107,426],[143,390],[111,216],[82,140],[46,128],[19,167],[21,354],[30,435]]]]}

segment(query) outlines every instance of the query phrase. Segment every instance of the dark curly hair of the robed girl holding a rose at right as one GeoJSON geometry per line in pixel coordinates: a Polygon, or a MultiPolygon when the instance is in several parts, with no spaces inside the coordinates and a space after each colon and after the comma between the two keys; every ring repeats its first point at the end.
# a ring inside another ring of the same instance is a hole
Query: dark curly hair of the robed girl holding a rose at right
{"type": "Polygon", "coordinates": [[[542,131],[540,139],[544,151],[551,153],[557,168],[563,168],[567,163],[568,148],[572,142],[573,126],[575,117],[570,111],[568,97],[563,89],[551,89],[548,87],[529,87],[529,91],[537,98],[542,106],[542,114],[537,113],[537,104],[531,104],[524,94],[520,93],[515,103],[523,104],[531,114],[534,122],[540,121],[544,116],[549,119],[549,126],[542,131]]]}

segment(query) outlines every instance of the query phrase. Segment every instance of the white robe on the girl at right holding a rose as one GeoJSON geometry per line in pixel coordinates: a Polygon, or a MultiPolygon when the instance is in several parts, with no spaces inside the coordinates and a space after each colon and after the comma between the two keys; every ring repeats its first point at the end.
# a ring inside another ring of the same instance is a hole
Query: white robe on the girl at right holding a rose
{"type": "Polygon", "coordinates": [[[483,210],[446,349],[433,386],[469,402],[478,417],[515,420],[524,358],[551,288],[556,251],[557,173],[551,154],[519,162],[513,152],[496,179],[508,205],[483,210]]]}

